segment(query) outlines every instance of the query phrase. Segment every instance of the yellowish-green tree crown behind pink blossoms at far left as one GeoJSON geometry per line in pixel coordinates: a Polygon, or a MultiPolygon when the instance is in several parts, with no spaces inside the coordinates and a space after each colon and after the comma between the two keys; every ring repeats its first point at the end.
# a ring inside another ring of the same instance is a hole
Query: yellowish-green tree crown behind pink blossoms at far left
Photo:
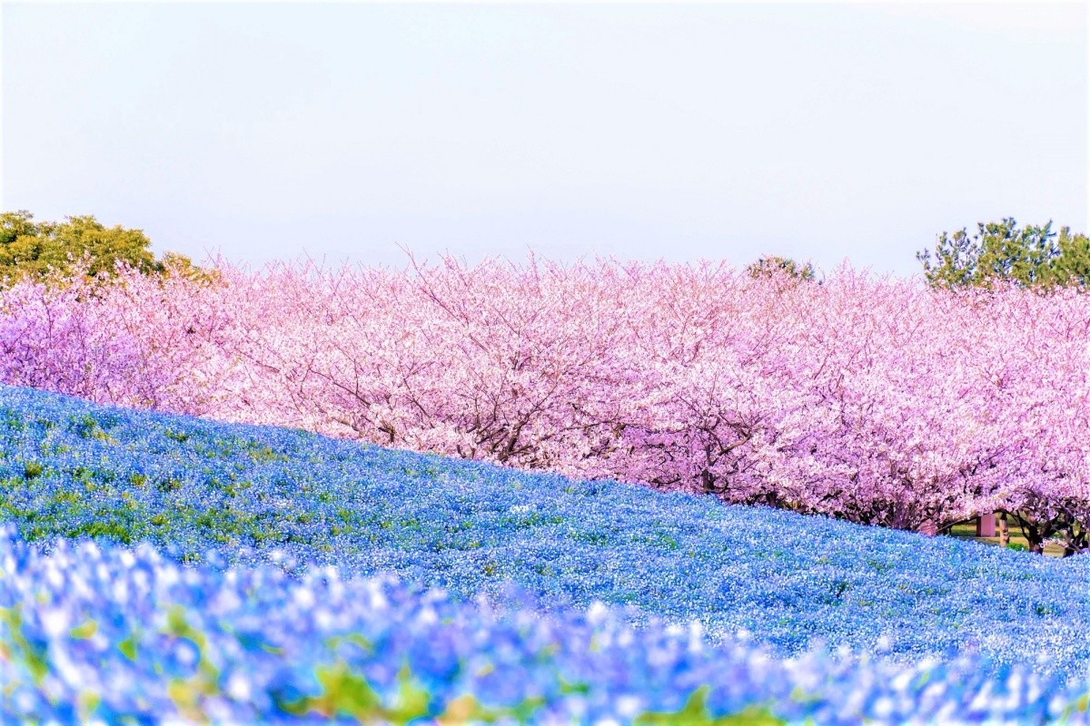
{"type": "Polygon", "coordinates": [[[111,273],[119,261],[145,274],[181,271],[196,274],[189,258],[168,253],[157,260],[152,241],[141,230],[107,227],[94,217],[68,217],[63,222],[35,222],[26,210],[0,214],[0,281],[31,276],[44,279],[51,271],[70,275],[85,261],[87,274],[111,273]]]}

